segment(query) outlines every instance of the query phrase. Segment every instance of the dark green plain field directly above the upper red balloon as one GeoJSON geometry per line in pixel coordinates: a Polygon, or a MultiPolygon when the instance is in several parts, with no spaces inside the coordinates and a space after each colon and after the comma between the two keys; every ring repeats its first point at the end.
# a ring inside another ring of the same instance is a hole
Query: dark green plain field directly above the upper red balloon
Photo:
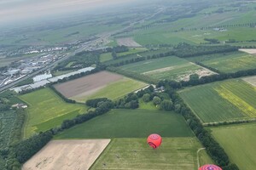
{"type": "Polygon", "coordinates": [[[65,130],[55,139],[146,138],[150,133],[163,137],[191,137],[183,116],[167,111],[113,110],[65,130]]]}

